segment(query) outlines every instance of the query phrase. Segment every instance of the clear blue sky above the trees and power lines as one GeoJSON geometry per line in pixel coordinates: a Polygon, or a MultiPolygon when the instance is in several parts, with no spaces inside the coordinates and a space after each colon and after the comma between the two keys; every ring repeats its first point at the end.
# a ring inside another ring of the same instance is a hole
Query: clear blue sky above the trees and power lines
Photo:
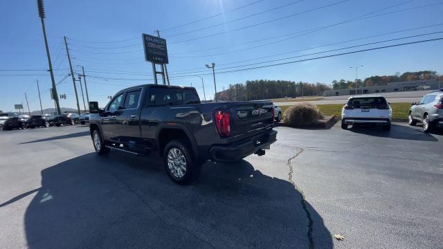
{"type": "MultiPolygon", "coordinates": [[[[293,0],[46,0],[46,32],[55,68],[55,82],[61,82],[57,86],[59,94],[65,93],[67,96],[66,100],[60,100],[60,105],[75,107],[71,77],[63,80],[69,73],[66,50],[62,44],[64,35],[68,38],[73,66],[84,66],[86,74],[89,75],[87,77],[89,99],[98,100],[100,106],[106,104],[107,95],[114,95],[125,86],[154,82],[151,80],[152,66],[144,61],[141,33],[154,33],[156,29],[161,30],[161,36],[168,42],[170,54],[168,71],[171,84],[183,86],[192,84],[197,87],[201,98],[203,98],[201,80],[194,75],[201,75],[204,78],[206,98],[213,96],[212,74],[204,66],[210,62],[215,62],[216,71],[223,72],[252,67],[237,67],[244,64],[319,53],[387,39],[423,35],[338,52],[282,59],[278,62],[443,37],[443,33],[437,33],[443,31],[442,1],[299,0],[298,3],[295,2],[293,0]],[[252,4],[248,5],[249,3],[252,4]],[[381,10],[399,3],[404,4],[381,10]],[[241,6],[246,7],[239,8],[241,6]],[[280,6],[284,7],[278,8],[280,6]],[[235,8],[239,9],[233,10],[235,8]],[[273,8],[275,10],[271,10],[273,8]],[[266,10],[271,11],[264,12],[266,10]],[[375,12],[377,10],[381,11],[375,12]],[[264,13],[259,14],[260,12],[264,13]],[[364,16],[363,19],[349,21],[371,12],[374,13],[364,16]],[[220,13],[224,14],[217,15],[220,13]],[[181,26],[213,15],[217,16],[181,26]],[[250,15],[251,17],[248,17],[250,15]],[[236,19],[239,20],[234,21],[236,19]],[[271,21],[274,19],[278,20],[271,21]],[[343,21],[347,22],[341,24],[343,21]],[[257,25],[252,26],[254,24],[257,25]],[[181,27],[173,28],[176,26],[181,27]],[[210,26],[211,28],[206,28],[210,26]],[[251,27],[246,28],[246,26],[251,27]],[[426,26],[427,28],[421,28],[426,26]],[[327,28],[311,33],[306,31],[300,33],[303,30],[320,27],[327,28]],[[323,46],[400,30],[408,31],[323,46]],[[221,34],[216,35],[218,33],[221,34]],[[429,33],[434,34],[424,35],[429,33]],[[199,37],[205,38],[195,39],[199,37]],[[323,47],[318,48],[318,46],[323,47]],[[242,62],[245,60],[249,61],[242,62]]],[[[3,10],[0,15],[2,34],[0,70],[3,70],[0,71],[0,110],[12,111],[13,104],[21,102],[26,105],[25,92],[28,95],[31,111],[38,110],[39,101],[35,83],[37,79],[40,82],[43,107],[53,107],[53,101],[47,91],[51,87],[51,78],[49,73],[44,71],[48,68],[48,62],[36,1],[3,0],[0,2],[0,9],[3,10]],[[4,71],[9,69],[40,71],[4,71]]],[[[443,42],[440,40],[256,70],[219,73],[217,90],[220,91],[228,84],[257,79],[328,84],[334,79],[352,80],[355,76],[350,66],[356,65],[364,65],[359,70],[360,78],[425,69],[443,73],[442,48],[443,42]]],[[[261,65],[266,63],[258,66],[261,65]]],[[[75,67],[75,72],[80,72],[79,69],[80,67],[75,67]]],[[[82,108],[80,87],[78,91],[82,108]]]]}

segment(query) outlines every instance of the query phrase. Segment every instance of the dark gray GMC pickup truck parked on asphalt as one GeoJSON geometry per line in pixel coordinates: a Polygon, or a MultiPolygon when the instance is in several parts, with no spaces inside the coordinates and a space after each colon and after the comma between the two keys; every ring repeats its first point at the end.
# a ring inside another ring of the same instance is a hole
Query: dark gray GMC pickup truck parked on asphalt
{"type": "Polygon", "coordinates": [[[158,151],[172,181],[190,183],[206,160],[264,155],[275,142],[272,102],[201,103],[194,88],[145,84],[119,91],[104,109],[89,102],[89,129],[100,155],[158,151]]]}

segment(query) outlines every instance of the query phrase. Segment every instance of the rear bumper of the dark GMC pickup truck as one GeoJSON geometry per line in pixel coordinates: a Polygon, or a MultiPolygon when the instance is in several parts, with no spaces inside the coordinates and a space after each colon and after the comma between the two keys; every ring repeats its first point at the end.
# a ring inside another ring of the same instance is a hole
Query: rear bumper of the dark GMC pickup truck
{"type": "Polygon", "coordinates": [[[260,149],[269,149],[277,140],[277,131],[270,130],[228,145],[214,145],[210,148],[210,159],[215,162],[231,162],[254,154],[260,149]]]}

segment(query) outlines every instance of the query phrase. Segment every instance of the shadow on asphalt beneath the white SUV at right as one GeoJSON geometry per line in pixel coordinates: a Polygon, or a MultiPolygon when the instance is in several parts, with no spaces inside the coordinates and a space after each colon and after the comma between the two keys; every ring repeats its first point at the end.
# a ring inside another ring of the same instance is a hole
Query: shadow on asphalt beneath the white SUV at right
{"type": "Polygon", "coordinates": [[[438,141],[437,138],[435,138],[431,134],[424,133],[420,129],[415,129],[413,127],[407,127],[404,125],[397,125],[397,124],[392,124],[390,131],[383,131],[381,127],[362,126],[362,125],[357,127],[350,127],[349,131],[369,136],[383,137],[383,138],[395,138],[402,140],[418,140],[418,141],[429,141],[429,142],[438,141]]]}

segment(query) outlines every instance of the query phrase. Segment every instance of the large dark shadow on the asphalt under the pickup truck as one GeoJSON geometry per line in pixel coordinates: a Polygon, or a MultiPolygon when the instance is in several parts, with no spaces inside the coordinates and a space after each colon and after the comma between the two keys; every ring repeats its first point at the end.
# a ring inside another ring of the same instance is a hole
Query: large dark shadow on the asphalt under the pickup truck
{"type": "Polygon", "coordinates": [[[246,160],[206,163],[194,185],[181,186],[155,156],[111,151],[44,169],[24,224],[29,248],[332,248],[305,202],[308,234],[301,200],[246,160]]]}

